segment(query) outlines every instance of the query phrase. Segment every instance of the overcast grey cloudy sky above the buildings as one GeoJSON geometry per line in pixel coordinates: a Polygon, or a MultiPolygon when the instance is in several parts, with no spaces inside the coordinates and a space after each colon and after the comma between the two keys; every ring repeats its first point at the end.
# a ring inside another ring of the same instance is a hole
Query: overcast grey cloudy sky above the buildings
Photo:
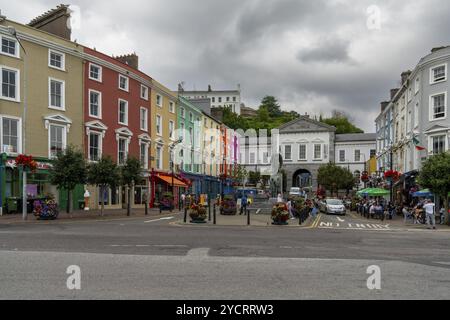
{"type": "MultiPolygon", "coordinates": [[[[58,3],[0,0],[0,8],[28,23],[58,3]]],[[[367,132],[400,73],[450,44],[448,0],[67,3],[81,12],[73,39],[110,55],[135,51],[140,69],[171,89],[181,81],[188,90],[240,83],[247,106],[274,95],[284,110],[301,114],[339,109],[367,132]],[[367,12],[373,5],[380,28],[367,12]]]]}

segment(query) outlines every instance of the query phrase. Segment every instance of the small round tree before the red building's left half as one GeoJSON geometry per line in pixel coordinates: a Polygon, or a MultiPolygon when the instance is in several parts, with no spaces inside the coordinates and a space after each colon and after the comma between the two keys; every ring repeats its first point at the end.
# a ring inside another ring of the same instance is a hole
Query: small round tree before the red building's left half
{"type": "Polygon", "coordinates": [[[103,216],[105,190],[120,184],[119,168],[110,156],[102,157],[100,161],[88,166],[87,181],[100,189],[102,203],[100,212],[103,216]]]}

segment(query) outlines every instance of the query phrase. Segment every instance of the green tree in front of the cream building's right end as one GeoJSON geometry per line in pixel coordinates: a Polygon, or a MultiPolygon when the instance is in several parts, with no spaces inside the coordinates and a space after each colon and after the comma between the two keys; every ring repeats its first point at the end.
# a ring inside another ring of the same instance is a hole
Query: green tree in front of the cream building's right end
{"type": "Polygon", "coordinates": [[[67,213],[71,212],[73,189],[86,182],[86,161],[81,150],[68,146],[63,152],[58,152],[49,169],[50,183],[58,190],[67,190],[67,213]]]}

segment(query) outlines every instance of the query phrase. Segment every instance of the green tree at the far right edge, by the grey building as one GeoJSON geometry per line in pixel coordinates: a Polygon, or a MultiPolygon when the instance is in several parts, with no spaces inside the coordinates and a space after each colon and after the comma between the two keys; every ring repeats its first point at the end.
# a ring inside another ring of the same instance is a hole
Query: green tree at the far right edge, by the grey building
{"type": "Polygon", "coordinates": [[[425,160],[418,182],[420,186],[430,189],[433,194],[445,199],[445,222],[449,224],[450,152],[441,153],[425,160]]]}

